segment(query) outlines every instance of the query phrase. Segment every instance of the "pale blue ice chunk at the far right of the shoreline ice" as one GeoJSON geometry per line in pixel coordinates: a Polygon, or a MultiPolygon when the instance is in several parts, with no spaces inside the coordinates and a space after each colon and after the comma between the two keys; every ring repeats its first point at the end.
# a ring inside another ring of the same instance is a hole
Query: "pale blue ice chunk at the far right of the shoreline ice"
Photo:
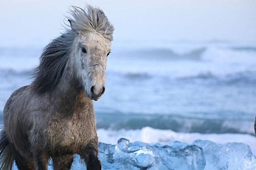
{"type": "Polygon", "coordinates": [[[209,140],[196,140],[206,159],[205,170],[256,170],[256,157],[244,143],[217,144],[209,140]]]}

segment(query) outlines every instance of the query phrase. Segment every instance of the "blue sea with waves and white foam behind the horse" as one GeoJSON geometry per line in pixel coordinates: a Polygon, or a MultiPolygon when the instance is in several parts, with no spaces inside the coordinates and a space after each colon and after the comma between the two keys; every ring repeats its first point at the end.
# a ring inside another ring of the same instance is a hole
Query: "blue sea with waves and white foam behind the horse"
{"type": "MultiPolygon", "coordinates": [[[[33,81],[42,48],[0,48],[1,123],[11,93],[33,81]]],[[[100,141],[142,140],[147,129],[144,142],[197,134],[256,146],[256,43],[114,41],[107,60],[106,91],[94,102],[100,141]]]]}

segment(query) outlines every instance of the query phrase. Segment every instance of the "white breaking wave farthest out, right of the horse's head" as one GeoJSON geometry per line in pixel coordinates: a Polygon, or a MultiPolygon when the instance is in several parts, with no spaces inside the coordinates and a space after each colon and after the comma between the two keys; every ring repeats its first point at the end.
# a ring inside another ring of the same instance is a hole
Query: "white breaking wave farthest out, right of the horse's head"
{"type": "Polygon", "coordinates": [[[148,50],[113,54],[107,73],[130,78],[214,78],[256,71],[256,52],[207,47],[177,54],[170,50],[148,50]],[[161,51],[161,52],[160,52],[161,51]]]}

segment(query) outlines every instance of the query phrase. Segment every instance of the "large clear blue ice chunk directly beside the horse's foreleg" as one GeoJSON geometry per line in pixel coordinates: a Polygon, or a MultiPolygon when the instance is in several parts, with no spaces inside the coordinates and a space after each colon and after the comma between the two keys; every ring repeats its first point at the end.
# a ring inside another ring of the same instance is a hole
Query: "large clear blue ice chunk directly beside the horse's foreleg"
{"type": "MultiPolygon", "coordinates": [[[[102,148],[100,145],[99,148],[102,148]]],[[[104,148],[106,146],[110,147],[104,145],[104,148]]],[[[202,149],[182,142],[130,143],[129,140],[121,138],[114,151],[100,156],[103,156],[100,160],[102,169],[105,170],[203,170],[205,166],[202,149]]]]}

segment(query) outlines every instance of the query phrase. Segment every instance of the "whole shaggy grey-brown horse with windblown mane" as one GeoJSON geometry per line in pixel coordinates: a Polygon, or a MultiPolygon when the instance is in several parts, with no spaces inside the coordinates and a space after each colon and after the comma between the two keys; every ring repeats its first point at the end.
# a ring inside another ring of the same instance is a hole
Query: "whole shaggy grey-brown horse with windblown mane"
{"type": "Polygon", "coordinates": [[[45,47],[31,85],[4,107],[0,169],[69,170],[79,154],[87,170],[100,170],[92,100],[105,91],[114,27],[98,8],[73,7],[67,30],[45,47]],[[87,9],[87,10],[86,10],[87,9]]]}

